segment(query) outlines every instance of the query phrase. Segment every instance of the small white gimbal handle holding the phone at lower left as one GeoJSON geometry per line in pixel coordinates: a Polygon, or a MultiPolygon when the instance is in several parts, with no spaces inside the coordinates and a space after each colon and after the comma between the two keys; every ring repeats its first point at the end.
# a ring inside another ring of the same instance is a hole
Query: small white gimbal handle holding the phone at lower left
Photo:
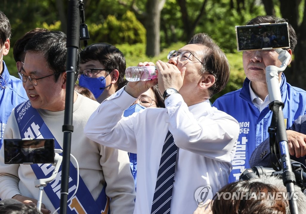
{"type": "Polygon", "coordinates": [[[55,165],[55,168],[52,172],[52,175],[49,178],[43,178],[43,179],[38,179],[34,181],[35,187],[39,188],[38,200],[37,200],[37,209],[39,212],[41,210],[41,204],[42,204],[43,187],[47,186],[47,183],[50,183],[51,181],[55,179],[55,177],[58,174],[58,170],[62,164],[62,159],[63,159],[62,156],[60,156],[58,153],[55,153],[55,156],[54,156],[55,164],[52,164],[52,165],[55,165]]]}

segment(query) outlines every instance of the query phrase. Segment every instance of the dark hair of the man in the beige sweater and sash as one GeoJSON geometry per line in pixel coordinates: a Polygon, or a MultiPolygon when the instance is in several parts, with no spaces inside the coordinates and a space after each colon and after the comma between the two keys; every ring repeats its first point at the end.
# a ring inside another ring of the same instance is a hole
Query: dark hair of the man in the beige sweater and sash
{"type": "MultiPolygon", "coordinates": [[[[41,32],[33,36],[29,42],[25,45],[24,51],[33,51],[42,53],[45,57],[48,67],[53,70],[54,73],[58,73],[55,76],[55,82],[58,81],[62,71],[66,71],[66,34],[61,31],[47,31],[41,32]]],[[[80,71],[80,54],[77,50],[76,54],[76,75],[74,82],[76,82],[78,73],[80,71]]]]}

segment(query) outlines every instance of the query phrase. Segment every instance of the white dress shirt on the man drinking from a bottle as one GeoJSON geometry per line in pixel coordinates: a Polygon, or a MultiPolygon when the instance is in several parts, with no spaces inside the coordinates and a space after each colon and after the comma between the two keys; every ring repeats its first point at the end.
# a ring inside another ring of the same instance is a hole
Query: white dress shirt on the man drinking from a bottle
{"type": "Polygon", "coordinates": [[[122,88],[104,100],[89,118],[86,136],[108,147],[137,153],[134,214],[149,214],[169,129],[179,148],[171,213],[193,213],[198,206],[198,188],[211,186],[211,198],[227,184],[239,134],[237,121],[211,107],[209,100],[188,107],[180,94],[170,95],[166,108],[146,108],[123,118],[123,111],[135,99],[122,88]]]}

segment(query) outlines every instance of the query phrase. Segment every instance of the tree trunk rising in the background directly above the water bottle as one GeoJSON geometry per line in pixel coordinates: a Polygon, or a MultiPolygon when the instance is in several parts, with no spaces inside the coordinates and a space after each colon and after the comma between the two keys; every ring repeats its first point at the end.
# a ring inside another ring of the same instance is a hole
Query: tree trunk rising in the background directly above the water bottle
{"type": "Polygon", "coordinates": [[[160,53],[160,13],[164,4],[164,0],[147,0],[147,16],[145,19],[147,56],[157,56],[160,53]]]}

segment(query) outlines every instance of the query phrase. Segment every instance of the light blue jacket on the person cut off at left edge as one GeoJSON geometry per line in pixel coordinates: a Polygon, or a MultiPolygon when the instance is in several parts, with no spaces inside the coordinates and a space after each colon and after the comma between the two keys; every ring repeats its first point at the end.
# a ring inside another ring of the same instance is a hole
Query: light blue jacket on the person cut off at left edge
{"type": "Polygon", "coordinates": [[[0,87],[0,148],[3,142],[3,132],[6,127],[6,122],[13,108],[18,104],[28,100],[22,81],[19,78],[9,75],[6,64],[3,61],[3,73],[0,77],[0,83],[5,89],[0,87]],[[4,81],[5,80],[5,81],[4,81]]]}

